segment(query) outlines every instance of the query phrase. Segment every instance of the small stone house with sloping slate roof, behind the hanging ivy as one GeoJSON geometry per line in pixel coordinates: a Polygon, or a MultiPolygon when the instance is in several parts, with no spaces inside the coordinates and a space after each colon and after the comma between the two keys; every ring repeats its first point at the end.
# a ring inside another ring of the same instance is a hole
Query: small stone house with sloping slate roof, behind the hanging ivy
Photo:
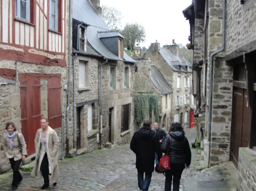
{"type": "MultiPolygon", "coordinates": [[[[135,73],[135,93],[156,93],[158,94],[158,107],[160,109],[159,127],[168,130],[171,117],[172,90],[163,74],[150,59],[136,59],[138,71],[135,73]],[[146,77],[146,78],[145,78],[146,77]]],[[[154,121],[152,121],[153,123],[154,121]]],[[[139,127],[137,127],[139,128],[139,127]]],[[[152,125],[153,128],[153,125],[152,125]]]]}

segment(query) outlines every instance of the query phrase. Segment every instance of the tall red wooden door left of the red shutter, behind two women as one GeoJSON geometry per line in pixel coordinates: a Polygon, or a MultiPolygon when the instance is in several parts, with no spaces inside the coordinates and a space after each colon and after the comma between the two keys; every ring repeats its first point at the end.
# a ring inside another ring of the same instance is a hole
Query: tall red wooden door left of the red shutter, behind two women
{"type": "Polygon", "coordinates": [[[35,135],[40,128],[41,83],[36,79],[20,81],[21,132],[27,144],[28,156],[35,153],[35,135]]]}

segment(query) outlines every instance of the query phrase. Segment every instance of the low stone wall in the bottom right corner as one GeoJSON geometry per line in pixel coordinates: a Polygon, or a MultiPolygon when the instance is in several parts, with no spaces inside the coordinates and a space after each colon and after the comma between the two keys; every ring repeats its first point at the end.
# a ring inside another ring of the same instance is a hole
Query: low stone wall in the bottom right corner
{"type": "Polygon", "coordinates": [[[255,191],[256,189],[256,151],[239,148],[237,191],[255,191]]]}

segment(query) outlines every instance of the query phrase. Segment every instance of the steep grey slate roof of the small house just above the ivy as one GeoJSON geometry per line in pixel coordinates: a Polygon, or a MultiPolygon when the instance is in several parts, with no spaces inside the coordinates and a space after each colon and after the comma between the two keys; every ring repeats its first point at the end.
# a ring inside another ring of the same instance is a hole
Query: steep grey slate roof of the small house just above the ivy
{"type": "Polygon", "coordinates": [[[151,65],[151,82],[164,95],[173,92],[160,70],[151,65]]]}

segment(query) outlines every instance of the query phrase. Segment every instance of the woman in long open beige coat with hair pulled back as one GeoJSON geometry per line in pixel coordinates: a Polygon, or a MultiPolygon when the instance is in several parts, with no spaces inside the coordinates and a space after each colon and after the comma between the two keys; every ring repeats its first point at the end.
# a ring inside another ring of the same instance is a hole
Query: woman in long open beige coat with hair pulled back
{"type": "Polygon", "coordinates": [[[35,137],[36,165],[31,173],[33,178],[43,175],[44,185],[42,190],[49,187],[50,180],[55,186],[59,179],[58,156],[60,142],[57,133],[48,126],[48,120],[42,117],[41,128],[37,130],[35,137]]]}

